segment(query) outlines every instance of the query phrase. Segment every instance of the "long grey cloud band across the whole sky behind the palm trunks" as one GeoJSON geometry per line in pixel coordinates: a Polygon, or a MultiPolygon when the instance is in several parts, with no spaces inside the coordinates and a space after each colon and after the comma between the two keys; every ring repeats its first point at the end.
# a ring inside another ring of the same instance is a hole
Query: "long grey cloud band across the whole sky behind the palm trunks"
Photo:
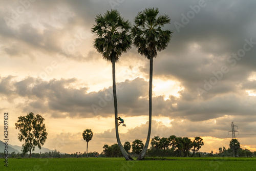
{"type": "MultiPolygon", "coordinates": [[[[112,87],[98,92],[88,92],[88,88],[75,88],[72,79],[52,79],[42,81],[28,77],[21,81],[15,77],[3,77],[0,80],[2,98],[14,100],[23,98],[16,104],[23,112],[34,111],[48,113],[52,117],[110,117],[113,115],[112,87]]],[[[148,82],[142,78],[117,83],[118,112],[125,116],[148,115],[148,82]]],[[[170,119],[188,121],[206,121],[224,116],[252,117],[256,112],[255,98],[243,95],[223,95],[200,101],[191,99],[180,92],[180,97],[163,96],[153,98],[153,116],[166,116],[170,119]]],[[[251,120],[253,122],[253,120],[251,120]]]]}

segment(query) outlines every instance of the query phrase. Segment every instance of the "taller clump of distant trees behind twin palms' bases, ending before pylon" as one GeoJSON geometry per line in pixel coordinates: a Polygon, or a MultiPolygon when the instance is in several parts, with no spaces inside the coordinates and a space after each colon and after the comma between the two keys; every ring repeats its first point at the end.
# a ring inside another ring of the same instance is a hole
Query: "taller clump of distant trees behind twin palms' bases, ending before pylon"
{"type": "MultiPolygon", "coordinates": [[[[193,157],[195,152],[199,152],[199,149],[204,145],[201,137],[195,137],[194,141],[191,141],[187,137],[176,137],[172,135],[168,138],[155,136],[151,139],[151,148],[147,150],[147,156],[177,156],[177,157],[193,157]],[[190,149],[193,154],[190,154],[190,149]]],[[[126,141],[123,144],[123,148],[128,154],[139,155],[144,147],[141,140],[136,139],[132,142],[126,141]],[[132,147],[132,152],[130,152],[132,147]]],[[[198,153],[199,157],[200,152],[198,153]]],[[[103,146],[103,155],[106,157],[121,157],[122,153],[118,147],[118,144],[111,146],[105,144],[103,146]]]]}

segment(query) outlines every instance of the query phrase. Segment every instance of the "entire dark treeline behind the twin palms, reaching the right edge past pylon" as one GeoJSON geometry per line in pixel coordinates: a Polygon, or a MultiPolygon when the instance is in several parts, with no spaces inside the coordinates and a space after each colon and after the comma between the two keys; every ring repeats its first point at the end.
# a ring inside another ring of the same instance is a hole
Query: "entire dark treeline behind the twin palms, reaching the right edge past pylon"
{"type": "MultiPolygon", "coordinates": [[[[176,137],[175,135],[168,138],[155,136],[151,139],[151,148],[147,150],[147,157],[252,157],[256,156],[256,152],[250,152],[248,149],[240,148],[240,143],[237,139],[230,141],[229,147],[220,147],[219,153],[202,153],[200,148],[204,145],[201,137],[195,137],[193,141],[188,137],[176,137]]],[[[141,140],[134,140],[132,144],[126,141],[123,144],[125,151],[131,156],[138,156],[144,144],[141,140]],[[131,150],[132,149],[132,150],[131,150]]],[[[100,157],[122,157],[122,153],[118,147],[118,144],[111,146],[105,144],[103,146],[103,152],[100,157]]]]}

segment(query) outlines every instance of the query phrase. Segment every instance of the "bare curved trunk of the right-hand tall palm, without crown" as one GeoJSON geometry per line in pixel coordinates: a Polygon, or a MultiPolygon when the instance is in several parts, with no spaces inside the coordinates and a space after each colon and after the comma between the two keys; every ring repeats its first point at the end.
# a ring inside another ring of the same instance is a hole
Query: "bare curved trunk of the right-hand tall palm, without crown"
{"type": "Polygon", "coordinates": [[[147,138],[144,145],[144,148],[142,149],[142,152],[140,153],[140,156],[137,160],[142,160],[144,156],[146,155],[148,144],[150,144],[150,135],[151,135],[151,123],[152,123],[152,83],[153,83],[153,58],[150,58],[150,90],[148,91],[148,101],[149,101],[149,114],[148,114],[148,132],[147,132],[147,138]]]}

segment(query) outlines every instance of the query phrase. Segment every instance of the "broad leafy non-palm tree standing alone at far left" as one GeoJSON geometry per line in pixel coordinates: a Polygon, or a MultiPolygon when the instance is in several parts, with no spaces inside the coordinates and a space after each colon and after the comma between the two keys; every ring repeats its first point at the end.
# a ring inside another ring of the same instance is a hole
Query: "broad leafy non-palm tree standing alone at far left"
{"type": "Polygon", "coordinates": [[[41,149],[41,146],[45,144],[48,133],[46,132],[46,126],[44,118],[34,113],[29,113],[26,116],[18,117],[18,121],[15,123],[15,129],[18,129],[18,140],[25,141],[22,145],[22,152],[25,155],[29,152],[31,158],[31,151],[35,151],[35,146],[41,149]]]}

